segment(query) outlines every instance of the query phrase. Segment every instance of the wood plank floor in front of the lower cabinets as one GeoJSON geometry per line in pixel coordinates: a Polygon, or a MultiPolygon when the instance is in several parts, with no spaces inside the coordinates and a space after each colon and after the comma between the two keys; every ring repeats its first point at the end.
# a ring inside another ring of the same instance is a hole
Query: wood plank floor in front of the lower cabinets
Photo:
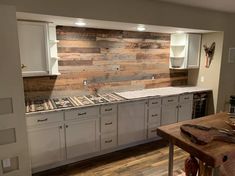
{"type": "MultiPolygon", "coordinates": [[[[175,148],[175,175],[182,174],[187,153],[175,148]]],[[[34,176],[167,176],[168,146],[152,142],[34,174],[34,176]]]]}

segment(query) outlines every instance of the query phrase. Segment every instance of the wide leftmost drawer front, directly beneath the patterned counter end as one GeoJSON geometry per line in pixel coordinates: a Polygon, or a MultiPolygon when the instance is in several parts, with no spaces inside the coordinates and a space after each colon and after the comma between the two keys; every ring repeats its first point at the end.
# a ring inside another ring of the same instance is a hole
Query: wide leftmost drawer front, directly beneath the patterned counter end
{"type": "Polygon", "coordinates": [[[35,114],[32,116],[26,117],[27,126],[40,125],[40,124],[51,123],[51,122],[60,122],[63,120],[64,120],[63,112],[35,114]]]}

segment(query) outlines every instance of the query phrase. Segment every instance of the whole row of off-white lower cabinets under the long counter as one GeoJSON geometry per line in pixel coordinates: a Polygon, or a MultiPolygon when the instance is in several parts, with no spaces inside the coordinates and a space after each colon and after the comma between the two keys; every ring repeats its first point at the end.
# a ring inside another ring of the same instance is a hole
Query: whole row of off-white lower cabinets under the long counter
{"type": "Polygon", "coordinates": [[[161,125],[192,117],[193,94],[27,117],[33,169],[157,138],[161,125]]]}

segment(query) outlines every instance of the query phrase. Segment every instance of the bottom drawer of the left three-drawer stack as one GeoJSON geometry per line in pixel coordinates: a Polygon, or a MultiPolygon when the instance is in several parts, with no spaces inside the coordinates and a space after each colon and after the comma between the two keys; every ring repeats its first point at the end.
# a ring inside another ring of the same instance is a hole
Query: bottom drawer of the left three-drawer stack
{"type": "Polygon", "coordinates": [[[113,148],[117,146],[117,133],[111,133],[101,136],[101,150],[113,148]]]}

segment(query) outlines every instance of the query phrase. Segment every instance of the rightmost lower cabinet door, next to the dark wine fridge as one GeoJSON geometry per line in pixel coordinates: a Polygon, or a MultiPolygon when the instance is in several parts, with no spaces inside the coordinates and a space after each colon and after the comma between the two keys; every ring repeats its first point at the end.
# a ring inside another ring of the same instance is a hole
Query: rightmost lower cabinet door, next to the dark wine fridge
{"type": "Polygon", "coordinates": [[[186,101],[184,103],[180,103],[178,121],[181,122],[184,120],[192,119],[192,111],[193,111],[193,101],[186,101]]]}

